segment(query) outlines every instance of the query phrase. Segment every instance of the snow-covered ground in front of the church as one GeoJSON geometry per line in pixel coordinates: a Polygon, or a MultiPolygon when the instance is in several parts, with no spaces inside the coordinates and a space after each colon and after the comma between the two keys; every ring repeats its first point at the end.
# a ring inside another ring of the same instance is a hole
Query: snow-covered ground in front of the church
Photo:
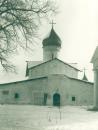
{"type": "Polygon", "coordinates": [[[1,105],[0,130],[98,130],[98,112],[81,106],[1,105]]]}

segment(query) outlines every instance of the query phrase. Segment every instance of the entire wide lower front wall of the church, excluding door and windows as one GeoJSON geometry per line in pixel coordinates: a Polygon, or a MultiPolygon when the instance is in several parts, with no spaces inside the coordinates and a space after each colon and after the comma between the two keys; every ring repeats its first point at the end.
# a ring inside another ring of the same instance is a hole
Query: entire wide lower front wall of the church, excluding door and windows
{"type": "Polygon", "coordinates": [[[48,94],[47,105],[53,105],[53,95],[59,93],[61,105],[91,105],[93,103],[93,84],[64,75],[50,75],[48,78],[30,79],[28,81],[0,85],[1,104],[43,105],[44,94],[48,94]],[[9,91],[3,94],[3,91],[9,91]],[[15,99],[15,93],[19,98],[15,99]],[[76,100],[72,101],[72,97],[76,100]]]}

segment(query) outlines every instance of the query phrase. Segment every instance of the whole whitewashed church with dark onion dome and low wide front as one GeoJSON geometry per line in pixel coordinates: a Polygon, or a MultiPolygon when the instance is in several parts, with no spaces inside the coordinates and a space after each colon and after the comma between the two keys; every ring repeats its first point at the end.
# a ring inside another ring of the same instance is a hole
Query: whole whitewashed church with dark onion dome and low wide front
{"type": "MultiPolygon", "coordinates": [[[[0,104],[87,106],[93,105],[96,97],[97,105],[98,94],[94,86],[98,88],[98,85],[89,82],[85,73],[83,79],[78,79],[80,70],[58,59],[62,42],[53,26],[42,45],[43,61],[27,62],[28,79],[0,84],[0,104]]],[[[95,63],[97,52],[98,48],[92,58],[94,64],[98,64],[98,61],[95,63]]],[[[95,80],[98,81],[98,76],[95,80]]]]}

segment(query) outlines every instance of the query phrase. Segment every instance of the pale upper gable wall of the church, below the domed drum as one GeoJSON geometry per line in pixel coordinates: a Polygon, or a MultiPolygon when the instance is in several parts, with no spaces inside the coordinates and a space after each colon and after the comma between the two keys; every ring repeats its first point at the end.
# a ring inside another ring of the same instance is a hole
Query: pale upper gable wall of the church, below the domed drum
{"type": "Polygon", "coordinates": [[[49,74],[65,74],[69,77],[78,77],[77,70],[57,60],[29,69],[29,78],[42,77],[49,74]]]}

